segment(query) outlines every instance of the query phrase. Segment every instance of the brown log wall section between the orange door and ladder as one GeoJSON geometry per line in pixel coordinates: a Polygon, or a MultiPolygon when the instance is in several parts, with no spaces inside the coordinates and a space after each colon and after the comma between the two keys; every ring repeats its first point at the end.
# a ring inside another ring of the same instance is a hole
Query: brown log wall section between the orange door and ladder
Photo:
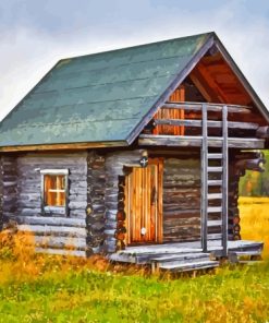
{"type": "Polygon", "coordinates": [[[167,158],[163,167],[163,242],[200,239],[200,160],[167,158]]]}

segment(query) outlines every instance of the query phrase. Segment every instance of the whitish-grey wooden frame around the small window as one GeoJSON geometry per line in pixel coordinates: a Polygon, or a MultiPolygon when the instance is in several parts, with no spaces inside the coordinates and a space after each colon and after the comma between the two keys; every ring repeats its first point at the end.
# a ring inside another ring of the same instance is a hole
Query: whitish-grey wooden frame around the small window
{"type": "Polygon", "coordinates": [[[41,175],[41,214],[46,215],[64,215],[69,216],[69,169],[40,169],[41,175]],[[45,205],[45,176],[64,176],[64,194],[65,205],[64,206],[46,206],[45,205]]]}

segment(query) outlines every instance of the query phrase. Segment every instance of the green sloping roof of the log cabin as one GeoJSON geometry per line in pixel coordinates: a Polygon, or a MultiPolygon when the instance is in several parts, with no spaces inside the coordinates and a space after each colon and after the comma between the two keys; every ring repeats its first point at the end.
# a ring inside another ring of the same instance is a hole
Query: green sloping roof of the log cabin
{"type": "Polygon", "coordinates": [[[0,146],[127,141],[211,35],[59,61],[0,123],[0,146]]]}

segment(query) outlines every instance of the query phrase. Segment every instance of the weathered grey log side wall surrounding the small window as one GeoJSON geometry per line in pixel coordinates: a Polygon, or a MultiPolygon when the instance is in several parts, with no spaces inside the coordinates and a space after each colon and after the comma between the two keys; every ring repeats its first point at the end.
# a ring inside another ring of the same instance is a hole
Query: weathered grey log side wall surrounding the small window
{"type": "Polygon", "coordinates": [[[2,157],[3,215],[19,229],[35,234],[38,250],[58,253],[70,249],[85,255],[87,205],[87,153],[40,154],[2,157]],[[69,169],[69,214],[41,214],[40,169],[69,169]]]}

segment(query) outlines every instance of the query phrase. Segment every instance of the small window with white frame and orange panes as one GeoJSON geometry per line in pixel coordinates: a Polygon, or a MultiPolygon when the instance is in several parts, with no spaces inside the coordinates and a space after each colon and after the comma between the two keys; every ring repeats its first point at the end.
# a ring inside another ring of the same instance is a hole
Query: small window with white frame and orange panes
{"type": "Polygon", "coordinates": [[[42,169],[41,208],[44,214],[68,215],[68,169],[42,169]]]}

